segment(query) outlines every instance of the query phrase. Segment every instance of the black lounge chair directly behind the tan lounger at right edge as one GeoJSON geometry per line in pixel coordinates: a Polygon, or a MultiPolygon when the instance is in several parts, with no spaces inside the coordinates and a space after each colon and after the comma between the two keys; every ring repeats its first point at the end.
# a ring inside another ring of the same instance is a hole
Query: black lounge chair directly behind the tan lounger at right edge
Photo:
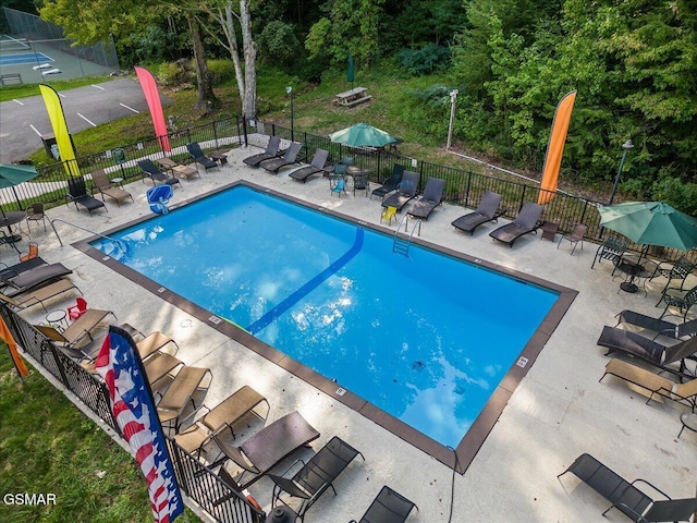
{"type": "Polygon", "coordinates": [[[608,348],[606,355],[616,351],[625,352],[651,365],[681,376],[683,376],[685,372],[684,360],[697,353],[697,337],[681,341],[674,345],[665,346],[637,332],[609,326],[602,328],[598,344],[608,348]],[[678,370],[669,367],[669,365],[674,363],[680,363],[678,370]]]}

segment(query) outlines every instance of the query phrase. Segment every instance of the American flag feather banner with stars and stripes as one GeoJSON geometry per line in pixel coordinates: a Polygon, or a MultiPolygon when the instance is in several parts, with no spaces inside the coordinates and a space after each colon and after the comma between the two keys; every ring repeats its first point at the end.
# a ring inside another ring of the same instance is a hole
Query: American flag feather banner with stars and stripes
{"type": "Polygon", "coordinates": [[[131,337],[109,327],[95,367],[107,382],[111,411],[148,483],[156,523],[173,521],[183,510],[164,436],[131,337]]]}

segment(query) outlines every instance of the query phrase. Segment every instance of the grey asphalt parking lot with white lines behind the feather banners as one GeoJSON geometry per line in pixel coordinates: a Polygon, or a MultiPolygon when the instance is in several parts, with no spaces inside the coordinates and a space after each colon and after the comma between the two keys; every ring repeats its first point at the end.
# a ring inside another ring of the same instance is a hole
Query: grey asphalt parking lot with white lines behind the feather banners
{"type": "MultiPolygon", "coordinates": [[[[135,78],[59,90],[59,96],[71,134],[148,110],[135,78]]],[[[167,101],[163,99],[162,104],[167,101]]],[[[25,159],[44,146],[41,136],[51,134],[51,122],[40,96],[0,104],[0,162],[25,159]]],[[[80,155],[80,150],[76,153],[80,155]]]]}

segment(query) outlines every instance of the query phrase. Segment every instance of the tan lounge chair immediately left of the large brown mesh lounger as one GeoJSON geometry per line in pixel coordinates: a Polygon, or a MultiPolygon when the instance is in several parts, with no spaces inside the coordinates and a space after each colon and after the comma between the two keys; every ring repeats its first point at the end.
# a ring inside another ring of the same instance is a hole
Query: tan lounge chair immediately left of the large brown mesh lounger
{"type": "MultiPolygon", "coordinates": [[[[254,411],[260,403],[266,403],[266,415],[268,416],[271,409],[268,400],[252,387],[245,385],[218,405],[209,409],[192,427],[175,436],[174,439],[188,452],[200,453],[212,433],[221,433],[229,428],[231,436],[234,438],[233,426],[247,414],[254,414],[260,419],[266,419],[266,417],[261,417],[254,411]]],[[[206,405],[203,408],[207,409],[206,405]]]]}

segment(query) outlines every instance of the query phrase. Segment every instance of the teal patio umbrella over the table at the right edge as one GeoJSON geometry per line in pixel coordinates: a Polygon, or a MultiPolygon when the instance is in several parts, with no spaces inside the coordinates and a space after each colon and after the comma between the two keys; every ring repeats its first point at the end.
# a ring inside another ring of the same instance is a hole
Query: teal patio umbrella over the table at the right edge
{"type": "Polygon", "coordinates": [[[688,251],[697,245],[697,219],[662,202],[600,207],[600,224],[634,243],[688,251]]]}

